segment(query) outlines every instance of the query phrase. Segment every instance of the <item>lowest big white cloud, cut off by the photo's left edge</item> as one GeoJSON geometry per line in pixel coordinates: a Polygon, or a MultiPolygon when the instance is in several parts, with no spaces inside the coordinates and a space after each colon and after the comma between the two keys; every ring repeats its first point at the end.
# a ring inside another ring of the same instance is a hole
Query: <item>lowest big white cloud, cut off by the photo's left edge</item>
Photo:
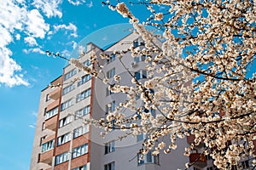
{"type": "Polygon", "coordinates": [[[0,47],[0,55],[0,83],[6,84],[10,88],[15,85],[29,86],[29,83],[24,80],[23,74],[17,73],[22,69],[14,59],[9,57],[12,55],[9,48],[0,47]]]}

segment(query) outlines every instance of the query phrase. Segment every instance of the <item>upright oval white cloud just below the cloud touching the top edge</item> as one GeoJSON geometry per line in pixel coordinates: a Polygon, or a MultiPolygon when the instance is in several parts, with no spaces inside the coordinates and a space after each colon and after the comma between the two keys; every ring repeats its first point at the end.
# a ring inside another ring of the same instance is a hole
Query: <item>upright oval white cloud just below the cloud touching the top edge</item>
{"type": "Polygon", "coordinates": [[[27,14],[26,31],[32,34],[32,37],[44,38],[44,35],[49,31],[49,24],[44,22],[43,16],[39,13],[38,9],[32,9],[27,14]]]}

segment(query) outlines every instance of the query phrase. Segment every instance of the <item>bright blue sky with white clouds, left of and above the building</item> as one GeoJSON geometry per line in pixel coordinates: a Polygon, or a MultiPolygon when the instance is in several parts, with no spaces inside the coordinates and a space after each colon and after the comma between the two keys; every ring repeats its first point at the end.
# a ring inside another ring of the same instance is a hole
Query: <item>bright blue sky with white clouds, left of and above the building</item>
{"type": "MultiPolygon", "coordinates": [[[[137,8],[143,17],[146,11],[137,8]]],[[[117,25],[128,20],[98,0],[1,0],[0,16],[0,170],[27,170],[40,91],[67,64],[44,51],[71,57],[79,42],[103,47],[130,25],[117,25]]]]}

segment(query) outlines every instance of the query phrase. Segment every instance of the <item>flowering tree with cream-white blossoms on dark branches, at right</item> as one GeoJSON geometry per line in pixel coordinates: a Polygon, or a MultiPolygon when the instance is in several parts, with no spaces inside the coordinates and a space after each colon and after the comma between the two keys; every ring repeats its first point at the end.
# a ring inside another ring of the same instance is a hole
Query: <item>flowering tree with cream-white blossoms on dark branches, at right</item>
{"type": "MultiPolygon", "coordinates": [[[[250,68],[256,54],[256,8],[253,0],[151,0],[130,2],[144,5],[152,13],[140,22],[125,3],[103,2],[130,20],[134,30],[143,38],[143,49],[128,48],[114,51],[131,76],[133,85],[120,84],[114,77],[110,84],[102,76],[102,65],[91,56],[94,69],[69,59],[70,63],[92,76],[102,79],[113,93],[127,94],[129,100],[120,104],[107,119],[86,120],[129,134],[146,133],[140,154],[160,150],[166,154],[175,150],[176,140],[194,136],[194,142],[184,155],[201,142],[206,145],[202,154],[211,154],[220,169],[236,167],[246,156],[255,159],[253,140],[256,133],[255,75],[250,68]],[[164,12],[165,11],[165,12],[164,12]],[[144,26],[155,26],[163,31],[153,35],[144,26]],[[161,46],[157,37],[164,37],[161,46]],[[122,62],[123,54],[147,56],[148,79],[139,82],[122,62]],[[136,107],[137,98],[143,100],[136,107]],[[137,111],[125,116],[120,108],[137,111]],[[156,111],[153,116],[147,110],[156,111]],[[113,122],[114,121],[114,122],[113,122]],[[163,137],[169,139],[162,140],[163,137]]],[[[51,54],[51,53],[49,53],[51,54]]],[[[57,54],[59,55],[59,54],[57,54]]],[[[83,55],[83,54],[82,54],[83,55]]],[[[109,54],[101,54],[102,59],[109,54]]],[[[256,164],[255,160],[253,161],[256,164]]],[[[192,164],[187,164],[187,168],[192,164]]],[[[254,167],[253,167],[254,168],[254,167]]]]}

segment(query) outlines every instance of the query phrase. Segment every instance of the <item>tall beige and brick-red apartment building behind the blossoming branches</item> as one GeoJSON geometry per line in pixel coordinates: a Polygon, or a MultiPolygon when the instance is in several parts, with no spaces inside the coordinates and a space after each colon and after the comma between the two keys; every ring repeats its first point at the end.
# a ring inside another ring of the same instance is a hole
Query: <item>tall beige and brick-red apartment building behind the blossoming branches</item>
{"type": "MultiPolygon", "coordinates": [[[[114,50],[129,48],[131,43],[134,48],[143,46],[136,33],[131,33],[105,50],[90,42],[80,61],[92,67],[89,61],[92,53],[113,54],[114,50]]],[[[123,62],[137,80],[144,81],[147,78],[145,63],[142,62],[145,56],[130,56],[129,53],[125,54],[123,62]]],[[[131,83],[131,76],[115,55],[100,62],[110,82],[113,82],[113,75],[117,74],[122,77],[121,84],[131,83]]],[[[203,144],[189,157],[183,156],[184,148],[193,142],[193,136],[178,140],[177,150],[172,150],[171,154],[152,156],[149,152],[143,161],[139,161],[137,151],[142,147],[143,134],[119,141],[118,137],[124,132],[113,130],[102,139],[100,128],[84,124],[83,121],[90,117],[99,119],[107,116],[108,111],[113,111],[120,102],[125,101],[124,94],[111,93],[101,80],[84,74],[73,65],[67,65],[61,77],[51,84],[54,88],[44,88],[41,92],[31,170],[176,170],[183,169],[186,162],[195,160],[192,167],[195,170],[213,169],[211,158],[201,156],[203,144]],[[75,81],[77,77],[79,81],[75,81]]],[[[138,102],[137,105],[143,104],[138,102]]],[[[135,114],[128,110],[124,113],[126,116],[135,114]]]]}

